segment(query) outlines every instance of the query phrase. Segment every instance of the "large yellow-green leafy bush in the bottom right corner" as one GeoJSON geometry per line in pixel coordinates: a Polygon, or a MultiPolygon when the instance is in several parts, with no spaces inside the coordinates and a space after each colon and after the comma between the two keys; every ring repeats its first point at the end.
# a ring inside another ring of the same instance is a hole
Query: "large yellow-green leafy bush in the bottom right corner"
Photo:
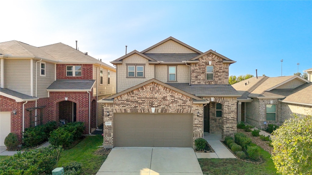
{"type": "Polygon", "coordinates": [[[312,116],[293,116],[273,131],[272,159],[283,175],[312,174],[312,116]]]}

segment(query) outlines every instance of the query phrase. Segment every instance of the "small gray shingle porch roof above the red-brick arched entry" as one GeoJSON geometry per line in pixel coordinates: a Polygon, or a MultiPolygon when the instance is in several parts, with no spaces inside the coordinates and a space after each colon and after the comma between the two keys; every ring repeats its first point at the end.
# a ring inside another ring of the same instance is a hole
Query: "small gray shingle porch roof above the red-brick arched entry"
{"type": "Polygon", "coordinates": [[[62,80],[54,81],[47,90],[87,90],[91,89],[95,80],[62,80]]]}

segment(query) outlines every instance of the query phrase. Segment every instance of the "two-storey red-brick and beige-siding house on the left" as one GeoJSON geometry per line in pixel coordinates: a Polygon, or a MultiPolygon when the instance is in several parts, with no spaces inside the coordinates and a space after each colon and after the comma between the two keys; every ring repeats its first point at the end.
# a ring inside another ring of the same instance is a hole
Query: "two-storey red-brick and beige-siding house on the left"
{"type": "Polygon", "coordinates": [[[1,146],[8,133],[48,121],[82,121],[84,134],[103,123],[96,101],[116,93],[116,69],[68,45],[0,43],[1,146]]]}

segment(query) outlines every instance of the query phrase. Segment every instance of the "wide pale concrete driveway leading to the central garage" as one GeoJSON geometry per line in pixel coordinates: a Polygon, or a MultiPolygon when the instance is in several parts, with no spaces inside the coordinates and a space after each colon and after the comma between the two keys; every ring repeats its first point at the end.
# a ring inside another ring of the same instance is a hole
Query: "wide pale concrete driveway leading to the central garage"
{"type": "Polygon", "coordinates": [[[192,148],[115,147],[96,175],[202,175],[192,148]]]}

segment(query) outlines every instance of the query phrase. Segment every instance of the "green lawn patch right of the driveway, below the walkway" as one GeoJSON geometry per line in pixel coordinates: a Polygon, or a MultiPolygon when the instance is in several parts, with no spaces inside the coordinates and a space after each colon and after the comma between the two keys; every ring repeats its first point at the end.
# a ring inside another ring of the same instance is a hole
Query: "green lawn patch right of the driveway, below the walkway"
{"type": "MultiPolygon", "coordinates": [[[[256,146],[256,144],[251,144],[256,146]]],[[[261,147],[260,155],[263,162],[260,164],[248,163],[236,158],[199,158],[198,162],[205,175],[274,175],[276,169],[271,159],[271,154],[263,150],[261,147]]]]}

